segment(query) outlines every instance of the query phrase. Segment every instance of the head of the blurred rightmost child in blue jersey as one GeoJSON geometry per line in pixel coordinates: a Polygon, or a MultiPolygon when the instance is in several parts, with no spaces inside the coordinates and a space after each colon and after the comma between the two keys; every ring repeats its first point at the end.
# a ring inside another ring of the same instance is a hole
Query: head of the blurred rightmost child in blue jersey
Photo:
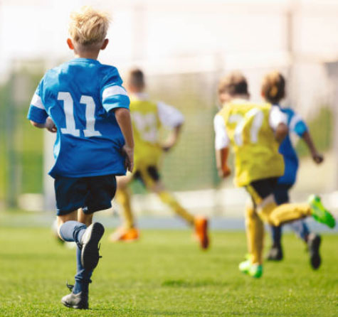
{"type": "Polygon", "coordinates": [[[285,97],[285,78],[278,71],[269,72],[263,78],[261,92],[265,100],[278,104],[285,97]]]}

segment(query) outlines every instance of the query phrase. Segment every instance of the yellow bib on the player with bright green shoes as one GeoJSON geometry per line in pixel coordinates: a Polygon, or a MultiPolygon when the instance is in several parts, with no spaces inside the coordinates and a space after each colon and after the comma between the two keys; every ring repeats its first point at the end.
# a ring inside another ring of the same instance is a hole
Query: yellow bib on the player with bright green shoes
{"type": "Polygon", "coordinates": [[[270,126],[271,110],[270,104],[234,100],[219,112],[235,153],[238,186],[278,177],[284,171],[279,144],[270,126]]]}

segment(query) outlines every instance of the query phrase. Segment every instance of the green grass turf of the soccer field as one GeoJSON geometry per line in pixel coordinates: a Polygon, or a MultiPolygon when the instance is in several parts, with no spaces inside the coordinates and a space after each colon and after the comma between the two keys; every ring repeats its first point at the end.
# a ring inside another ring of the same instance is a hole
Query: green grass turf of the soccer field
{"type": "Polygon", "coordinates": [[[317,272],[304,245],[285,235],[285,260],[252,279],[237,269],[244,232],[212,232],[208,252],[189,231],[144,230],[130,244],[110,244],[107,233],[90,310],[75,311],[60,303],[75,250],[46,228],[0,227],[0,316],[338,316],[337,235],[324,235],[317,272]]]}

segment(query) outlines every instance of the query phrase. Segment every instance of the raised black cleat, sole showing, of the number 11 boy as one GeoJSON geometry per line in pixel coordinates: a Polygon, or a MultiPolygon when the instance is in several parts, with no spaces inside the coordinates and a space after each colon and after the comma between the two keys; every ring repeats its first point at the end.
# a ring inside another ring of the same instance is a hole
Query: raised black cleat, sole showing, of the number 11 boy
{"type": "Polygon", "coordinates": [[[97,267],[100,259],[99,242],[105,233],[105,227],[100,222],[94,222],[90,225],[82,237],[81,264],[89,271],[97,267]]]}

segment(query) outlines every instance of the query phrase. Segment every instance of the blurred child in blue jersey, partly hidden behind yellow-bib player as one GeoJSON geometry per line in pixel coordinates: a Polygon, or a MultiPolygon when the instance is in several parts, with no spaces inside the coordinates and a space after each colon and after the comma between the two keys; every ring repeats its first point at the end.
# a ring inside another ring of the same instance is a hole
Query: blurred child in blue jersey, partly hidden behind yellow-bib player
{"type": "MultiPolygon", "coordinates": [[[[271,104],[279,105],[280,100],[285,97],[285,79],[280,72],[270,72],[265,75],[261,87],[261,94],[265,101],[271,104]]],[[[315,163],[319,164],[323,161],[323,156],[318,153],[315,144],[312,142],[310,132],[307,125],[302,118],[290,108],[281,108],[282,112],[287,115],[287,124],[289,131],[300,136],[307,144],[310,150],[312,159],[315,163]]],[[[275,188],[275,201],[278,205],[289,202],[289,190],[292,188],[296,181],[298,158],[295,149],[292,146],[290,135],[287,135],[282,144],[280,144],[280,154],[282,154],[285,163],[285,173],[278,179],[278,186],[275,188]]],[[[310,252],[310,264],[313,269],[318,269],[321,263],[319,254],[320,237],[310,233],[304,220],[292,222],[292,230],[304,240],[310,252]]],[[[282,227],[271,227],[273,246],[268,254],[268,259],[280,261],[283,257],[282,254],[282,227]]]]}

